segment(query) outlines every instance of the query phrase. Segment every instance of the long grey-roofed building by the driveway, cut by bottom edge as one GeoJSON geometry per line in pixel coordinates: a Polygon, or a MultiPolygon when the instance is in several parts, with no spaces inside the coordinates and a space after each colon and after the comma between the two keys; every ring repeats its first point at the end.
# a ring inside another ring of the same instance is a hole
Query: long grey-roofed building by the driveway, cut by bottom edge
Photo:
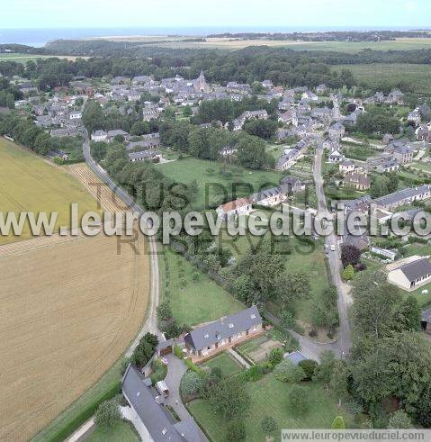
{"type": "Polygon", "coordinates": [[[204,440],[193,419],[176,422],[169,416],[163,401],[157,401],[157,392],[145,383],[142,374],[134,365],[128,366],[122,378],[121,391],[135,414],[133,423],[142,440],[154,442],[204,440]]]}

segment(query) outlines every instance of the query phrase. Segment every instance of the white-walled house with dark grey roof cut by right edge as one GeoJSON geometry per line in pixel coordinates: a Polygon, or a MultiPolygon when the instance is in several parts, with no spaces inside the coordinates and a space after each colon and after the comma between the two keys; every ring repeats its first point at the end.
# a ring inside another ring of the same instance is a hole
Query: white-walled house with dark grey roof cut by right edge
{"type": "Polygon", "coordinates": [[[391,270],[388,281],[400,288],[412,291],[431,280],[431,263],[427,257],[405,264],[391,270]]]}

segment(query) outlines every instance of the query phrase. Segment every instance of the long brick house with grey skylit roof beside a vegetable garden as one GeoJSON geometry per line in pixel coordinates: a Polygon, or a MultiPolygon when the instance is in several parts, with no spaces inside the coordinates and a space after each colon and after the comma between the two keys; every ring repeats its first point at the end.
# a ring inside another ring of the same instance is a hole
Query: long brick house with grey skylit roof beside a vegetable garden
{"type": "Polygon", "coordinates": [[[193,329],[184,337],[192,360],[202,360],[262,333],[262,318],[255,305],[193,329]]]}

